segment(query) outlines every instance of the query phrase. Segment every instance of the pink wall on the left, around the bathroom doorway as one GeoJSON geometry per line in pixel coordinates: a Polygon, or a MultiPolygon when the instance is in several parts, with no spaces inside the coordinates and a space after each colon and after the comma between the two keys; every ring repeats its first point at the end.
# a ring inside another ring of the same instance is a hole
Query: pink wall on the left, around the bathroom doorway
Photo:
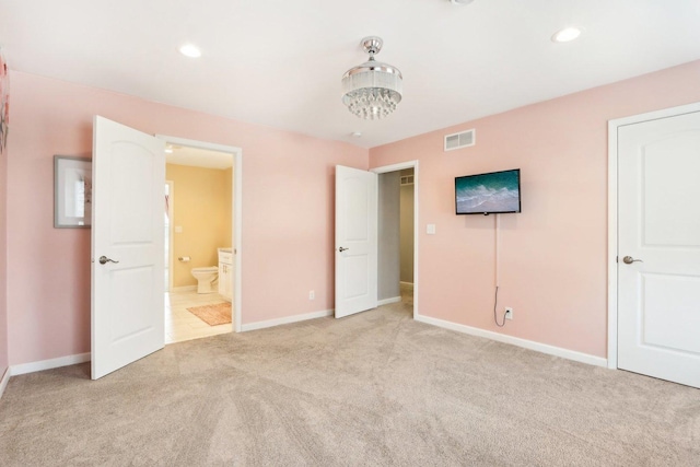
{"type": "Polygon", "coordinates": [[[52,156],[91,154],[94,114],[243,149],[244,324],[334,307],[334,167],[368,168],[369,151],[16,71],[12,94],[11,364],[90,351],[90,230],[54,229],[52,156]]]}

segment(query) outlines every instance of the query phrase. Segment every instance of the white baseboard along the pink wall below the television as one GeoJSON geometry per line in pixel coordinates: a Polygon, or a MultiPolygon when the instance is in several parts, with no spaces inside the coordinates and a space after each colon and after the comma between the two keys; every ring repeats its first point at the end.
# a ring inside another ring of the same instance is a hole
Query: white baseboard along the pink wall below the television
{"type": "Polygon", "coordinates": [[[485,337],[487,339],[497,340],[512,346],[523,347],[525,349],[535,350],[537,352],[547,353],[549,355],[561,357],[562,359],[573,360],[575,362],[587,363],[594,366],[607,367],[608,361],[602,357],[590,355],[587,353],[576,352],[575,350],[562,349],[561,347],[549,346],[547,343],[535,342],[534,340],[521,339],[520,337],[508,336],[504,334],[493,332],[490,330],[479,329],[471,326],[459,325],[443,319],[431,318],[429,316],[419,315],[415,318],[417,322],[442,327],[445,329],[456,330],[471,336],[485,337]]]}

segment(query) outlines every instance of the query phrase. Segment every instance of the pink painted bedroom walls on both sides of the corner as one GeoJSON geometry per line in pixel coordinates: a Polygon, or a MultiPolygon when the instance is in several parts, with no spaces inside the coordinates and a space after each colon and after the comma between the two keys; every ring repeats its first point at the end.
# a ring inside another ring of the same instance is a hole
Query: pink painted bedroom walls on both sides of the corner
{"type": "Polygon", "coordinates": [[[243,148],[244,324],[332,308],[336,164],[417,159],[420,313],[605,357],[607,120],[700,101],[698,82],[700,61],[368,154],[13,72],[12,132],[0,160],[0,248],[8,253],[0,256],[0,370],[8,360],[90,350],[90,231],[52,227],[52,155],[89,156],[94,114],[149,133],[243,148]],[[476,147],[442,151],[445,133],[468,128],[477,129],[476,147]],[[454,177],[511,167],[523,170],[524,198],[523,213],[501,217],[499,304],[513,306],[515,319],[500,329],[492,320],[494,218],[454,215],[454,177]],[[436,235],[424,234],[427,223],[438,224],[436,235]]]}

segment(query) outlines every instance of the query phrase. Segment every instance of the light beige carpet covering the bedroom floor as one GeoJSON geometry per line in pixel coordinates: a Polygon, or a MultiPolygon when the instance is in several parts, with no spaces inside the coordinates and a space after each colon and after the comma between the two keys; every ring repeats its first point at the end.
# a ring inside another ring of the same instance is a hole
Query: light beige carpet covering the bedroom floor
{"type": "Polygon", "coordinates": [[[700,390],[397,303],[13,376],[2,466],[698,466],[700,390]]]}

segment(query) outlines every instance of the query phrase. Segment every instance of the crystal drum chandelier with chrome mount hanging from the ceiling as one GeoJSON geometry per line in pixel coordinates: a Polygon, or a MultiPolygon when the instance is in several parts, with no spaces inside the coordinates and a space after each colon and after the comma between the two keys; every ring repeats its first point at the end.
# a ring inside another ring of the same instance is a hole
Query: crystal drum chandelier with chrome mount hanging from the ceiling
{"type": "Polygon", "coordinates": [[[360,118],[374,120],[396,110],[401,102],[404,77],[398,68],[374,60],[383,40],[376,36],[362,39],[360,45],[370,60],[346,71],[342,75],[342,103],[360,118]]]}

